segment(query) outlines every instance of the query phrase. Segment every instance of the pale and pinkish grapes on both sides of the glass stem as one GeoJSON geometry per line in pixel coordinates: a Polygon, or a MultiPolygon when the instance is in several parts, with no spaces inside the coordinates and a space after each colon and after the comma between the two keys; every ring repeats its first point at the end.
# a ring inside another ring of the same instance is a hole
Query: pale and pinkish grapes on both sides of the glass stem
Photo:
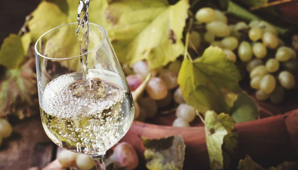
{"type": "MultiPolygon", "coordinates": [[[[90,156],[68,150],[59,152],[57,158],[66,168],[78,167],[80,170],[91,170],[95,166],[90,156]]],[[[127,170],[134,170],[139,165],[139,159],[135,149],[129,143],[121,142],[114,148],[113,154],[105,160],[106,166],[111,163],[115,169],[126,167],[127,170]]]]}

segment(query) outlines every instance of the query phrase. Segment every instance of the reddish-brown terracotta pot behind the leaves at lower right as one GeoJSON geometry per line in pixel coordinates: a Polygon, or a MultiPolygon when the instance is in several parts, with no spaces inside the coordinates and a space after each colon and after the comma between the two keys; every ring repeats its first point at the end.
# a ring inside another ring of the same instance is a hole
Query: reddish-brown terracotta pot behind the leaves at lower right
{"type": "MultiPolygon", "coordinates": [[[[266,111],[262,111],[266,112],[266,111]]],[[[285,115],[275,115],[245,123],[236,123],[238,130],[238,150],[232,155],[231,167],[236,167],[245,154],[263,166],[277,165],[295,159],[292,147],[297,143],[298,110],[285,115]]],[[[166,136],[182,135],[186,144],[185,170],[209,169],[209,157],[205,141],[205,129],[196,127],[171,127],[135,121],[122,141],[132,144],[145,166],[144,145],[140,136],[158,139],[166,136]]],[[[296,145],[298,146],[298,145],[296,145]]]]}

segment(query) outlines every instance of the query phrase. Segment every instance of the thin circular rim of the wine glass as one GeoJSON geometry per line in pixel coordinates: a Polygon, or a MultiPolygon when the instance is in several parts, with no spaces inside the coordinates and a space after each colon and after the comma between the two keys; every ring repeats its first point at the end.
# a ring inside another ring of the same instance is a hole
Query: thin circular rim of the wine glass
{"type": "Polygon", "coordinates": [[[51,32],[51,31],[53,31],[53,30],[55,30],[55,29],[57,29],[57,28],[64,27],[64,26],[67,26],[67,25],[72,25],[72,24],[77,24],[77,22],[72,22],[72,23],[68,23],[68,24],[64,24],[64,25],[57,26],[57,27],[52,28],[52,29],[50,29],[49,31],[45,32],[43,35],[41,35],[41,36],[38,38],[38,40],[36,41],[35,45],[34,45],[34,50],[35,50],[36,55],[38,55],[38,56],[40,56],[40,57],[43,57],[43,58],[51,59],[51,60],[68,60],[68,59],[73,59],[73,58],[76,58],[76,57],[84,56],[84,55],[86,55],[86,54],[88,54],[88,53],[92,53],[93,51],[99,49],[99,48],[103,45],[103,43],[106,41],[106,39],[107,39],[107,32],[106,32],[106,30],[105,30],[102,26],[100,26],[100,25],[98,25],[98,24],[95,24],[95,23],[92,23],[92,22],[89,22],[89,24],[91,24],[91,25],[95,25],[95,26],[101,28],[101,29],[103,30],[103,32],[104,32],[104,38],[103,38],[103,40],[102,40],[101,43],[100,43],[98,46],[96,46],[94,49],[92,49],[92,50],[90,50],[90,51],[87,51],[87,53],[84,53],[84,54],[81,54],[81,55],[78,55],[78,56],[74,56],[74,57],[67,57],[67,58],[51,58],[51,57],[46,57],[46,56],[41,55],[41,54],[38,52],[38,50],[37,50],[37,44],[41,41],[41,39],[42,39],[46,34],[48,34],[49,32],[51,32]]]}

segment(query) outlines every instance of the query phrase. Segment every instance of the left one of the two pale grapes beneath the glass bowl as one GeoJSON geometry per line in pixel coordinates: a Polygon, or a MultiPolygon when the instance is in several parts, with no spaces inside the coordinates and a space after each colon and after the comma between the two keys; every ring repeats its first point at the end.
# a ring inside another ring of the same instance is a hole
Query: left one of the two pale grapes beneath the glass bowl
{"type": "Polygon", "coordinates": [[[77,153],[63,149],[61,152],[59,152],[57,159],[63,167],[70,168],[75,166],[77,155],[77,153]]]}

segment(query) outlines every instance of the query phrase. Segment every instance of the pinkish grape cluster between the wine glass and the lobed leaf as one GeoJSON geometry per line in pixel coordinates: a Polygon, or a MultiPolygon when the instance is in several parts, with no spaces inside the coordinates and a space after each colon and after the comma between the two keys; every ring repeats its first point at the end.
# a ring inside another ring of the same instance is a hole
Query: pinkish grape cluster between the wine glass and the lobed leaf
{"type": "MultiPolygon", "coordinates": [[[[181,63],[177,59],[161,69],[153,70],[155,76],[149,80],[143,96],[135,102],[135,119],[145,121],[146,118],[154,117],[160,109],[175,103],[177,118],[173,126],[187,127],[194,120],[195,110],[185,103],[177,83],[181,63]]],[[[141,60],[133,65],[133,71],[133,74],[126,77],[132,91],[136,90],[145,80],[149,74],[149,66],[146,61],[141,60]]]]}

